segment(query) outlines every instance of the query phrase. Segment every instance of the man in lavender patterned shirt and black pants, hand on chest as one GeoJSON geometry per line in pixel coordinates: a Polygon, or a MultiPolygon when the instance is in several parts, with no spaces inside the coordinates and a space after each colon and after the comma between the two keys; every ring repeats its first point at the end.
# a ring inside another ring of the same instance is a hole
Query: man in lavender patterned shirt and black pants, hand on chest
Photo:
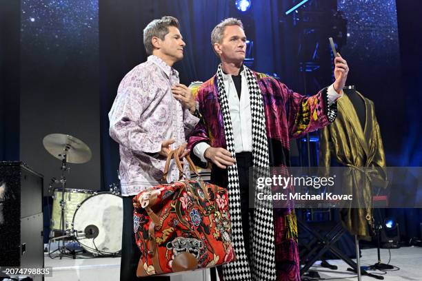
{"type": "MultiPolygon", "coordinates": [[[[108,114],[110,136],[119,143],[121,160],[121,280],[138,280],[140,251],[134,238],[132,198],[146,187],[159,185],[170,149],[181,147],[181,158],[188,154],[186,137],[199,121],[194,116],[197,108],[191,91],[179,83],[179,73],[172,67],[183,59],[185,47],[179,21],[174,17],[154,19],[143,30],[143,43],[148,60],[125,75],[108,114]]],[[[184,168],[188,173],[187,163],[184,168]]],[[[175,165],[167,179],[179,179],[175,165]]]]}

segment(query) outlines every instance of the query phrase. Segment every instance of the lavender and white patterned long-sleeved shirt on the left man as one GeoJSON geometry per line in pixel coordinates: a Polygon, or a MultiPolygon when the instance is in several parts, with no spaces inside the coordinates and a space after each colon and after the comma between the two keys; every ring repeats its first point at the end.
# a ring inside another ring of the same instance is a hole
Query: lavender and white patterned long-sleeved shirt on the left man
{"type": "MultiPolygon", "coordinates": [[[[157,56],[148,56],[119,85],[108,118],[110,136],[119,143],[122,196],[158,185],[165,165],[165,158],[157,154],[161,143],[174,139],[172,149],[185,143],[199,121],[173,97],[171,87],[177,83],[177,70],[157,56]]],[[[184,169],[189,174],[186,163],[184,169]]],[[[172,163],[167,180],[178,179],[172,163]]]]}

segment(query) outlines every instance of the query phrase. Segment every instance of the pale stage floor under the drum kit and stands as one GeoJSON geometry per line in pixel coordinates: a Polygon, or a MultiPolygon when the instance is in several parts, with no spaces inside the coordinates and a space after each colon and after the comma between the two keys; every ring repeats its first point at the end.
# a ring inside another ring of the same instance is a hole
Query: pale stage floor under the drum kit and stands
{"type": "MultiPolygon", "coordinates": [[[[88,256],[90,257],[90,256],[88,256]]],[[[381,262],[388,263],[388,249],[381,249],[381,262]]],[[[376,249],[362,250],[361,266],[368,266],[377,262],[376,249]]],[[[115,281],[119,280],[120,258],[86,258],[76,259],[59,258],[51,259],[45,256],[46,267],[52,267],[52,277],[46,278],[47,281],[62,280],[101,280],[115,281]]],[[[347,271],[348,265],[341,260],[330,260],[339,269],[332,271],[319,267],[320,262],[316,262],[311,270],[318,271],[321,278],[330,278],[330,280],[356,280],[356,274],[347,271]],[[334,279],[332,279],[334,278],[334,279]]],[[[421,247],[402,247],[391,250],[390,264],[399,267],[398,271],[388,271],[383,275],[386,281],[399,280],[421,280],[422,275],[422,248],[421,247]]],[[[371,273],[382,273],[381,271],[370,271],[371,273]]],[[[140,279],[141,280],[141,279],[140,279]]],[[[171,276],[172,281],[208,281],[210,276],[208,271],[194,271],[192,273],[177,274],[171,276]]],[[[362,280],[376,280],[363,276],[362,280]]]]}

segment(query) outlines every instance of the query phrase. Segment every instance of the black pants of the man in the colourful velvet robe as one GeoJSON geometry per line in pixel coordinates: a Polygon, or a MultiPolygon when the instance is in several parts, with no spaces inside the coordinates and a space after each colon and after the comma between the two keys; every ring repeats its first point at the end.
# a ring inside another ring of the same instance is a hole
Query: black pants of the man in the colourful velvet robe
{"type": "MultiPolygon", "coordinates": [[[[249,217],[253,217],[253,194],[250,196],[249,187],[249,169],[253,166],[252,152],[241,152],[236,154],[237,173],[239,174],[239,187],[241,196],[241,217],[243,228],[243,241],[245,242],[246,256],[250,257],[250,231],[249,217]]],[[[252,175],[251,175],[252,176],[252,175]]],[[[227,169],[219,169],[217,166],[212,167],[211,183],[221,187],[228,186],[227,169]]],[[[230,202],[230,198],[229,198],[230,202]]],[[[220,279],[222,278],[222,268],[217,268],[220,279]]],[[[212,274],[213,275],[213,274],[212,274]]],[[[213,278],[212,278],[213,279],[213,278]]]]}

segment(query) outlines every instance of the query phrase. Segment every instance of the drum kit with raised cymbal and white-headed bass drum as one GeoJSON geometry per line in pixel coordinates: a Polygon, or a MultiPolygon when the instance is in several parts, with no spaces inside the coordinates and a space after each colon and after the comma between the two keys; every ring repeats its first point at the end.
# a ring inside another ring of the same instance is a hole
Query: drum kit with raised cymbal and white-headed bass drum
{"type": "Polygon", "coordinates": [[[50,183],[53,201],[49,242],[58,240],[59,248],[55,251],[59,251],[59,257],[76,258],[77,253],[83,251],[93,256],[119,256],[123,200],[116,185],[105,192],[66,188],[68,163],[87,163],[92,156],[91,149],[83,141],[67,134],[49,134],[43,138],[43,146],[61,160],[61,178],[52,178],[50,183]],[[54,185],[59,187],[53,188],[54,185]],[[83,250],[70,251],[65,241],[77,242],[83,250]]]}

